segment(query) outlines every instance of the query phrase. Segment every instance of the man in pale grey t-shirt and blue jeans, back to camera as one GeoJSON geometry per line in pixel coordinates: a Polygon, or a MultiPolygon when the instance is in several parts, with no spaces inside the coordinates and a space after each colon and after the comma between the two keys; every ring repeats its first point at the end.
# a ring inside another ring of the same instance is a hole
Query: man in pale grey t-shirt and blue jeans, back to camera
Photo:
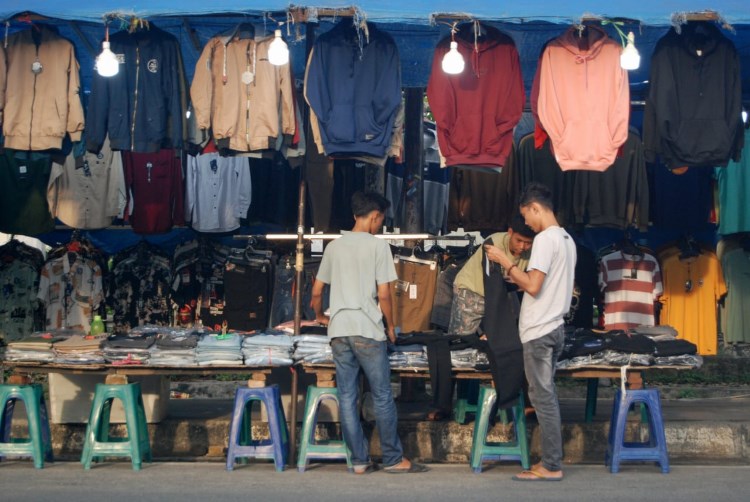
{"type": "Polygon", "coordinates": [[[336,364],[341,428],[344,441],[352,452],[356,474],[365,474],[375,468],[357,407],[360,369],[372,392],[384,471],[409,473],[427,470],[427,467],[403,456],[391,391],[386,332],[388,339],[395,342],[390,283],[397,276],[388,244],[375,237],[383,226],[389,205],[377,194],[357,192],[352,196],[354,227],[326,247],[312,291],[316,319],[328,325],[336,364]],[[325,284],[331,286],[330,318],[323,314],[325,284]],[[386,326],[383,325],[384,317],[386,326]]]}

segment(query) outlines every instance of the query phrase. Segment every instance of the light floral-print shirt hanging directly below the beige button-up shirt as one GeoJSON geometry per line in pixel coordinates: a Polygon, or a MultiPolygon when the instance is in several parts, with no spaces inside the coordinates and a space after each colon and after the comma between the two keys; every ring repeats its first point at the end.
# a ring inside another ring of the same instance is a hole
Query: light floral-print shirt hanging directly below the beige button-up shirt
{"type": "Polygon", "coordinates": [[[70,253],[42,268],[38,298],[47,305],[47,329],[73,328],[88,333],[104,299],[102,269],[90,259],[70,253]]]}

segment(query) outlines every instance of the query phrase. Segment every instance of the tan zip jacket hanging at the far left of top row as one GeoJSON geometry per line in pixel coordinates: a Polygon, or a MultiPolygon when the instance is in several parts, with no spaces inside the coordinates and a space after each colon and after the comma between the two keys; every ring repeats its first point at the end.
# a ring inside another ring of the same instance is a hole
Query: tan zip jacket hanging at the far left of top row
{"type": "Polygon", "coordinates": [[[84,126],[80,76],[73,44],[43,25],[8,37],[0,52],[0,122],[5,146],[60,148],[65,133],[80,141],[84,126]],[[32,30],[39,30],[38,49],[32,30]],[[41,71],[34,73],[38,61],[41,71]]]}

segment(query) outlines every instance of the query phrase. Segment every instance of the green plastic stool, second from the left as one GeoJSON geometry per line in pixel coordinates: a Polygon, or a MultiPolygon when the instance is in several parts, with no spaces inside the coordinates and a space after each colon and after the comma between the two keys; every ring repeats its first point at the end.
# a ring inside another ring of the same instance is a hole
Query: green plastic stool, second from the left
{"type": "Polygon", "coordinates": [[[89,423],[86,425],[81,463],[85,469],[90,469],[92,460],[99,460],[105,456],[130,457],[134,471],[141,470],[143,460],[152,460],[140,383],[96,384],[89,423]],[[125,423],[128,429],[126,438],[109,437],[109,418],[114,399],[122,401],[125,410],[125,423]]]}

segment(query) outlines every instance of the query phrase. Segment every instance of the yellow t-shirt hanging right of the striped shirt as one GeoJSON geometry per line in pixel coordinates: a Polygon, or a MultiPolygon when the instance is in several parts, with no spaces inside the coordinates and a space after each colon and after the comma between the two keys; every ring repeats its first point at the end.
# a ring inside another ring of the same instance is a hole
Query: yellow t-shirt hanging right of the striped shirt
{"type": "Polygon", "coordinates": [[[673,326],[680,338],[694,343],[701,355],[715,355],[716,303],[727,292],[716,255],[703,251],[680,260],[678,249],[660,254],[664,294],[660,298],[660,324],[673,326]]]}

